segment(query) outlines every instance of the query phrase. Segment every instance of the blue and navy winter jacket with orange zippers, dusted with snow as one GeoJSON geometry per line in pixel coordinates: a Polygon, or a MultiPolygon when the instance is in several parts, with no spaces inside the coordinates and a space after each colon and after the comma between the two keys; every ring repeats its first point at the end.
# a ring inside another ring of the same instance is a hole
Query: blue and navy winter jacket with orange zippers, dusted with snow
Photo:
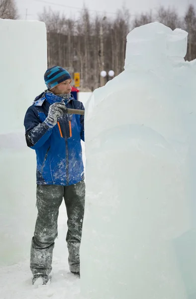
{"type": "MultiPolygon", "coordinates": [[[[64,113],[57,125],[44,123],[49,106],[62,98],[50,92],[38,96],[24,118],[27,146],[37,156],[37,184],[72,185],[84,179],[81,139],[84,141],[84,116],[64,113]]],[[[85,110],[83,104],[71,98],[67,108],[85,110]]]]}

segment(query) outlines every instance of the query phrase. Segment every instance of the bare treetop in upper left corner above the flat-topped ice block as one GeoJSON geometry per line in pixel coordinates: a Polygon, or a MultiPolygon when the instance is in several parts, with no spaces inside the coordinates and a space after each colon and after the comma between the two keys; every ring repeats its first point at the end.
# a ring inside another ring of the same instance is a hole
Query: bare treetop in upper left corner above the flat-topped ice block
{"type": "Polygon", "coordinates": [[[17,19],[18,12],[15,0],[0,0],[0,18],[17,19]]]}

